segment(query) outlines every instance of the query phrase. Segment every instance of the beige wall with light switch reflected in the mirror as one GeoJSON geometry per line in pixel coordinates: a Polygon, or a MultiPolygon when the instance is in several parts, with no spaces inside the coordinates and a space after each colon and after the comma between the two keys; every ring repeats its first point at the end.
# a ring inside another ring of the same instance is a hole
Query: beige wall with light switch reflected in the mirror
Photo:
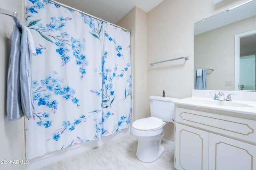
{"type": "Polygon", "coordinates": [[[235,35],[256,29],[254,17],[195,36],[194,69],[214,68],[207,72],[207,90],[235,90],[225,86],[225,80],[235,82],[235,35]]]}

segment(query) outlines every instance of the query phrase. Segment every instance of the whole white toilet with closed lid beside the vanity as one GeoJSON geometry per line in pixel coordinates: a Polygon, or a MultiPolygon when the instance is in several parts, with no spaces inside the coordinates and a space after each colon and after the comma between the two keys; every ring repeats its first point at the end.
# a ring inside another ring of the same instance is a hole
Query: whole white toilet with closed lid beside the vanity
{"type": "Polygon", "coordinates": [[[151,117],[138,119],[132,123],[132,136],[138,139],[136,157],[142,162],[153,162],[164,153],[161,145],[163,127],[173,122],[174,103],[178,98],[150,96],[151,117]]]}

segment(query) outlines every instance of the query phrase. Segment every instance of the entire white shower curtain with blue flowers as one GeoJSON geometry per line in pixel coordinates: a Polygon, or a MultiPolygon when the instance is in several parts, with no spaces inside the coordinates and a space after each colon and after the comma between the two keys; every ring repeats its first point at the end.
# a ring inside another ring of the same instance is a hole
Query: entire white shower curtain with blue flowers
{"type": "Polygon", "coordinates": [[[25,12],[36,47],[26,158],[129,127],[130,32],[46,0],[26,0],[25,12]]]}

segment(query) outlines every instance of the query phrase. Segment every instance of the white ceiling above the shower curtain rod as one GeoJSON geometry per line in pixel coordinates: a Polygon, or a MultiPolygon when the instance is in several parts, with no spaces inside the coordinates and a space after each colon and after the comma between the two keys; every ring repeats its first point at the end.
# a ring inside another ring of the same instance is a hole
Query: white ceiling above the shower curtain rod
{"type": "Polygon", "coordinates": [[[117,23],[137,6],[149,12],[164,0],[56,0],[62,4],[96,16],[110,23],[117,23]]]}

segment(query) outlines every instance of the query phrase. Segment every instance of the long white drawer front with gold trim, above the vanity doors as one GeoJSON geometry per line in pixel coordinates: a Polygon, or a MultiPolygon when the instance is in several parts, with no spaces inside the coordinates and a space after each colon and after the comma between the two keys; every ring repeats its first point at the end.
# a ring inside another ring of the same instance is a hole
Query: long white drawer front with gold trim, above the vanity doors
{"type": "Polygon", "coordinates": [[[256,145],[256,121],[176,107],[175,121],[256,145]]]}

